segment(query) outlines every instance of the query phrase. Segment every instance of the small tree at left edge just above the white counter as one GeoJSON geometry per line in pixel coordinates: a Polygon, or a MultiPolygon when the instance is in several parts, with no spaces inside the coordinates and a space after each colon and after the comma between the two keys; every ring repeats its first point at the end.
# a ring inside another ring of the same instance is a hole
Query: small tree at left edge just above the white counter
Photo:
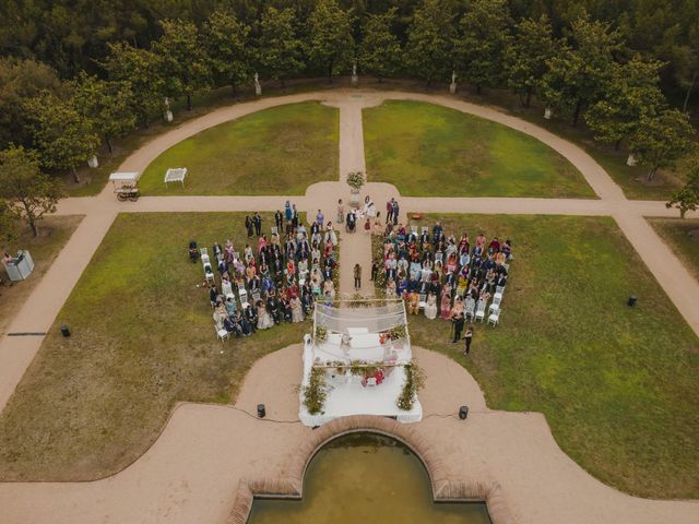
{"type": "Polygon", "coordinates": [[[35,153],[10,146],[0,152],[0,198],[38,235],[37,222],[54,213],[62,195],[60,180],[42,172],[35,153]]]}

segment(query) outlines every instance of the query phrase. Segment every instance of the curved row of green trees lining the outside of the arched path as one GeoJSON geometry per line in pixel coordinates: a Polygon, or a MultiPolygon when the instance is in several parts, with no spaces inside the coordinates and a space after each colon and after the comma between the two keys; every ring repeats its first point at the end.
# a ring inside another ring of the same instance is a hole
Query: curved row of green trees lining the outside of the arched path
{"type": "MultiPolygon", "coordinates": [[[[516,19],[506,0],[423,0],[407,24],[399,7],[375,14],[318,0],[312,9],[268,7],[252,25],[230,9],[198,21],[164,20],[149,47],[107,43],[102,75],[59,80],[31,59],[0,60],[0,145],[16,144],[43,171],[72,170],[100,143],[147,126],[168,98],[213,86],[284,82],[307,71],[333,75],[357,63],[379,79],[445,82],[457,73],[481,92],[509,87],[523,105],[536,96],[555,115],[580,118],[603,142],[626,145],[649,179],[691,148],[687,115],[660,88],[667,64],[632,52],[623,32],[584,13],[562,31],[547,15],[516,19]],[[299,20],[299,12],[307,13],[299,20]],[[562,36],[557,36],[557,34],[562,36]]],[[[15,151],[11,150],[11,151],[15,151]]],[[[5,206],[7,207],[7,206],[5,206]]]]}

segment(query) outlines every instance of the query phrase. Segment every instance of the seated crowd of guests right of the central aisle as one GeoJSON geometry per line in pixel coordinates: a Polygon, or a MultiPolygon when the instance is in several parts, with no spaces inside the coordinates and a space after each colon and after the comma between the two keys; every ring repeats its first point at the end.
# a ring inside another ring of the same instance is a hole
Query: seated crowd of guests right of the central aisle
{"type": "Polygon", "coordinates": [[[428,319],[474,319],[478,309],[485,311],[498,289],[503,290],[512,258],[509,239],[488,239],[483,233],[471,239],[466,231],[460,238],[447,236],[439,222],[431,231],[418,231],[389,221],[382,246],[382,253],[375,253],[371,278],[387,296],[403,297],[408,313],[423,310],[428,319]]]}

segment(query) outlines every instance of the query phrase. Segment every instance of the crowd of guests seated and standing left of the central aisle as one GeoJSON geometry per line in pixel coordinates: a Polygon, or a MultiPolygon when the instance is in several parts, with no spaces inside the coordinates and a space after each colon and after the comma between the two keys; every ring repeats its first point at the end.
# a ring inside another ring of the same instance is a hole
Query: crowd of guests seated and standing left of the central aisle
{"type": "Polygon", "coordinates": [[[307,229],[288,201],[274,219],[268,236],[259,213],[246,216],[248,242],[241,251],[226,240],[203,255],[190,242],[192,262],[210,260],[204,276],[217,333],[249,336],[282,322],[301,322],[316,300],[334,300],[337,235],[332,223],[319,211],[307,229]]]}

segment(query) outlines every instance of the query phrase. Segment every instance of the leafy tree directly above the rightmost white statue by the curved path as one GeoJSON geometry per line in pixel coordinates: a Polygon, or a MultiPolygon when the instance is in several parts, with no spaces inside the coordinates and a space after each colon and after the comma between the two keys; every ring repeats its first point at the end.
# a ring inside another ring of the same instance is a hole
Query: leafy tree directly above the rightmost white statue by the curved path
{"type": "Polygon", "coordinates": [[[656,60],[643,61],[638,55],[624,66],[613,66],[603,98],[585,112],[585,122],[595,132],[595,140],[612,143],[618,150],[643,118],[660,112],[665,105],[657,87],[662,66],[656,60]]]}

